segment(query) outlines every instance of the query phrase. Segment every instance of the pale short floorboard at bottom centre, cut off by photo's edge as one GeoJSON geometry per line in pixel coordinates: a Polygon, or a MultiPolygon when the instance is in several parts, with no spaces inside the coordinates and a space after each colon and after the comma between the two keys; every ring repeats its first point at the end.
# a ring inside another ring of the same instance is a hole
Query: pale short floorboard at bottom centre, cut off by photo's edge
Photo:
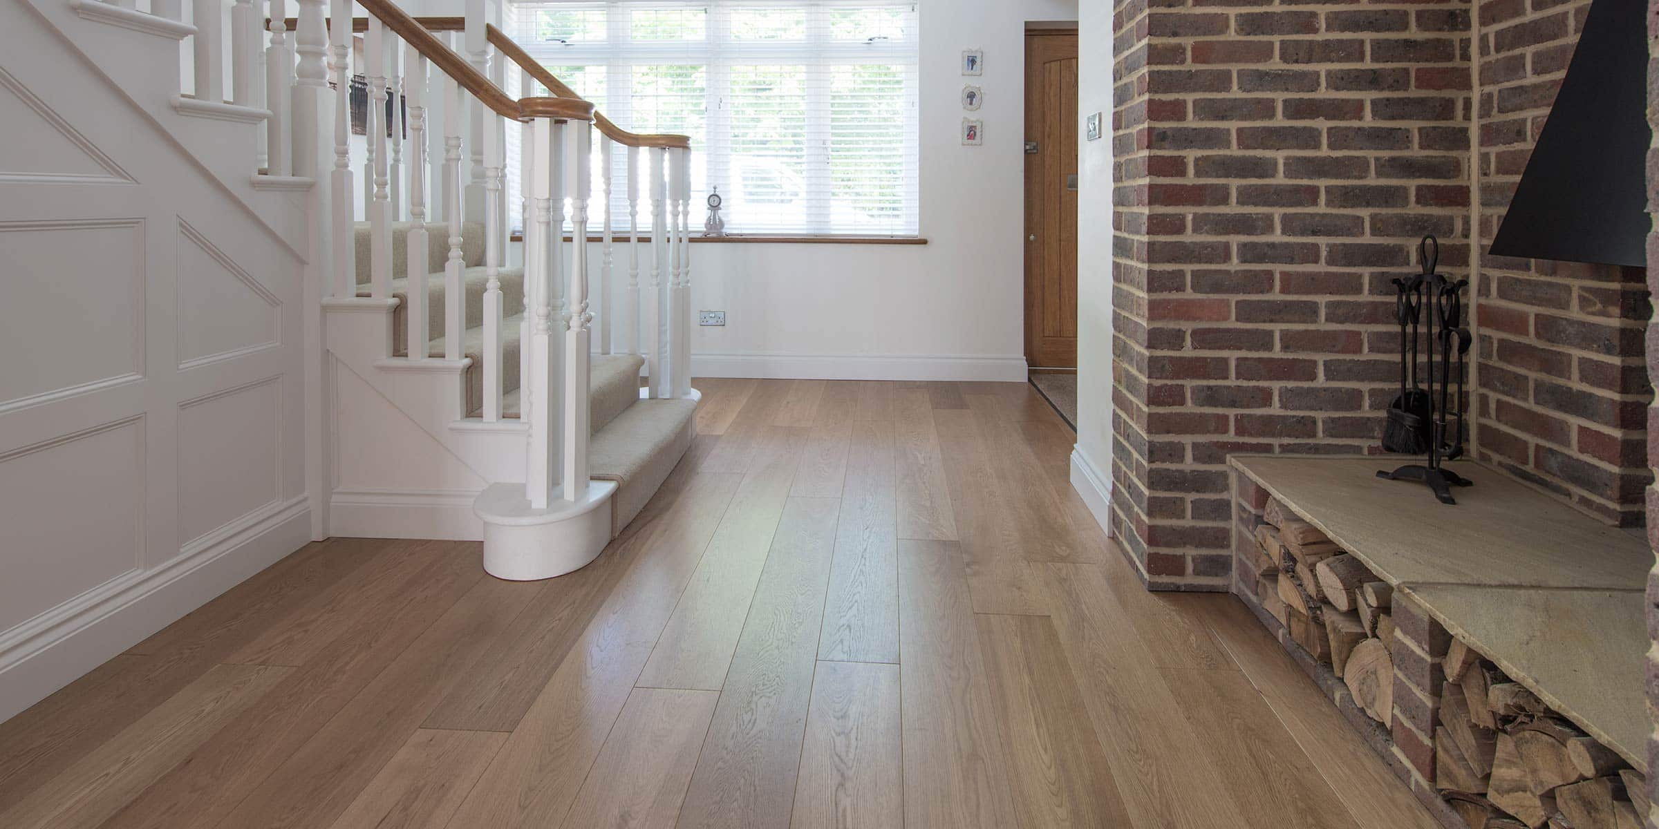
{"type": "Polygon", "coordinates": [[[790,829],[904,826],[899,706],[898,665],[818,663],[790,829]]]}

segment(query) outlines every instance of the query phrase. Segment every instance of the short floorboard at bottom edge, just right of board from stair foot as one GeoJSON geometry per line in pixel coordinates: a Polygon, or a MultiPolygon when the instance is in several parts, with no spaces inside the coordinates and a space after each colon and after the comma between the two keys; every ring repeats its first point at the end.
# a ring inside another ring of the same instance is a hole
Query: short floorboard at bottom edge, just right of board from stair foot
{"type": "Polygon", "coordinates": [[[718,696],[715,691],[634,688],[561,826],[670,829],[718,696]]]}

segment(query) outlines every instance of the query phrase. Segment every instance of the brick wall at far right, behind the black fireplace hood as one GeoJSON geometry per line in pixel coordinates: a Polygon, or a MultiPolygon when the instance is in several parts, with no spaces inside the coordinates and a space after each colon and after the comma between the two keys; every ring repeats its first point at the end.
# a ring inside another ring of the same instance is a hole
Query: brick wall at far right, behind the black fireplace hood
{"type": "MultiPolygon", "coordinates": [[[[1480,250],[1550,114],[1588,0],[1486,0],[1478,13],[1480,250]]],[[[1477,456],[1621,526],[1642,524],[1651,315],[1641,269],[1485,255],[1477,456]]]]}

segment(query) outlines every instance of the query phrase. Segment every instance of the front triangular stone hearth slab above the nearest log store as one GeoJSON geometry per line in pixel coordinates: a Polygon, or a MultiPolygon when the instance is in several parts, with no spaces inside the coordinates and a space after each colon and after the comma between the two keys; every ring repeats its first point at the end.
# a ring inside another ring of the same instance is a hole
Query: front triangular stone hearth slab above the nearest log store
{"type": "Polygon", "coordinates": [[[1467,585],[1404,590],[1550,708],[1647,769],[1642,594],[1467,585]]]}

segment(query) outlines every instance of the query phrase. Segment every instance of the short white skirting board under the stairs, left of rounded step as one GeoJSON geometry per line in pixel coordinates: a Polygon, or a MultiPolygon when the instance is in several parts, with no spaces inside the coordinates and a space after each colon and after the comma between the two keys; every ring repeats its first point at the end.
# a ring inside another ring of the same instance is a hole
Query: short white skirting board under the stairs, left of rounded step
{"type": "Polygon", "coordinates": [[[473,512],[478,492],[335,489],[328,501],[328,534],[350,539],[483,541],[484,522],[473,512]]]}

